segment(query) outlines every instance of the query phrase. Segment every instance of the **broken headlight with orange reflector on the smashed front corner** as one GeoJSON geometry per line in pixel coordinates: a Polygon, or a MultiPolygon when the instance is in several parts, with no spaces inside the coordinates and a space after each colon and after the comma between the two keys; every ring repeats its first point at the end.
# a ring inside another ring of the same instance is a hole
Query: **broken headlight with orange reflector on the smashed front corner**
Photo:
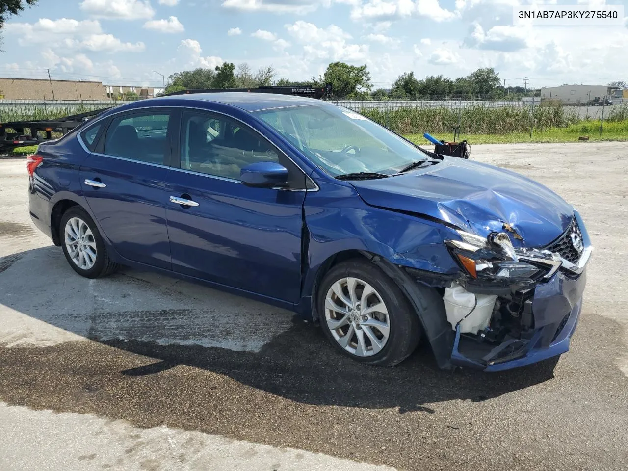
{"type": "Polygon", "coordinates": [[[515,249],[506,232],[475,236],[457,230],[462,241],[448,240],[453,256],[472,278],[522,283],[549,278],[560,268],[558,254],[538,249],[515,249]]]}

